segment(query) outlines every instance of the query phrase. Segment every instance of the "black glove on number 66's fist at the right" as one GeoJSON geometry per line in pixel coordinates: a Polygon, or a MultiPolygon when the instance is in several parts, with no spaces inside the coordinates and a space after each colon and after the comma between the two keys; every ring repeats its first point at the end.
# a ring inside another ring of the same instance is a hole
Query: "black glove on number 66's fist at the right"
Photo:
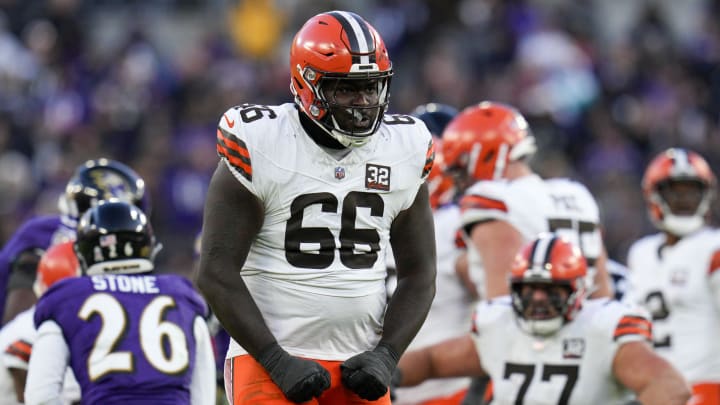
{"type": "Polygon", "coordinates": [[[362,399],[375,401],[385,395],[400,356],[387,344],[353,356],[340,365],[342,382],[362,399]]]}

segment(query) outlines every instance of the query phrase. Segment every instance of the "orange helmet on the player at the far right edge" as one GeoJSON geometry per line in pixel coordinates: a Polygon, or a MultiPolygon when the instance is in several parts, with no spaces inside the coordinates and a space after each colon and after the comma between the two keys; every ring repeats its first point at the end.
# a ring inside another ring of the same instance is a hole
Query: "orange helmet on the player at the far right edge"
{"type": "Polygon", "coordinates": [[[665,150],[650,162],[642,180],[650,220],[657,228],[677,236],[700,229],[707,222],[715,183],[715,175],[699,154],[682,148],[665,150]],[[676,182],[696,185],[698,193],[673,193],[670,186],[676,182]],[[690,209],[673,212],[671,200],[687,198],[691,199],[685,202],[691,204],[690,209]]]}

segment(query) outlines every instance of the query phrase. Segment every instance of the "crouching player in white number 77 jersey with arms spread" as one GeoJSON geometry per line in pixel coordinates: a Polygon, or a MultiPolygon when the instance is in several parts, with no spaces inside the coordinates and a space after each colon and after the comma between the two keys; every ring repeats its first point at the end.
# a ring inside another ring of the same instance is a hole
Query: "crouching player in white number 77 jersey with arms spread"
{"type": "Polygon", "coordinates": [[[471,333],[400,359],[401,385],[489,375],[490,404],[683,405],[689,387],[653,352],[640,307],[586,300],[580,249],[541,234],[515,258],[509,297],[482,301],[471,333]]]}

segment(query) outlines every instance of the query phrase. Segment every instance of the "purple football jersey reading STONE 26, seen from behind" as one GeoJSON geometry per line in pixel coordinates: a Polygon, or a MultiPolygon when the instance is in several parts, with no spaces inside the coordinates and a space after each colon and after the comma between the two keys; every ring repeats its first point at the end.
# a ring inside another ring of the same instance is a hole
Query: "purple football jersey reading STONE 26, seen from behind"
{"type": "Polygon", "coordinates": [[[118,274],[56,283],[35,325],[62,328],[83,404],[189,404],[198,316],[207,306],[187,279],[118,274]]]}

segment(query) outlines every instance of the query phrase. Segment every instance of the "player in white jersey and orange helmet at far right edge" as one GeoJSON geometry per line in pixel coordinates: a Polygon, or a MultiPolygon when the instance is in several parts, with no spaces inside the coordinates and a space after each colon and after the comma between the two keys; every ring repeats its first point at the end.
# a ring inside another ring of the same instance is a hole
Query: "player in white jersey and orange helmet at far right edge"
{"type": "Polygon", "coordinates": [[[646,306],[655,350],[693,386],[693,405],[720,404],[720,232],[708,226],[715,176],[705,159],[671,148],[643,177],[659,233],[628,255],[626,299],[646,306]]]}

